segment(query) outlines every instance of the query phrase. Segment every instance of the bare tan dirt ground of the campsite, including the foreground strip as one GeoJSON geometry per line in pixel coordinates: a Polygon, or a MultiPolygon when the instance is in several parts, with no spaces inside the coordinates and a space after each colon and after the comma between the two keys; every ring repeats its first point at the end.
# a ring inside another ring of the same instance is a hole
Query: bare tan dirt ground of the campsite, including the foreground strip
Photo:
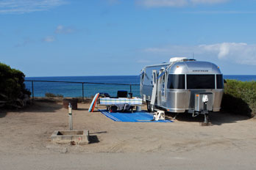
{"type": "MultiPolygon", "coordinates": [[[[89,104],[74,110],[74,129],[90,130],[92,144],[52,144],[68,130],[62,103],[35,101],[0,111],[0,169],[255,169],[256,120],[227,113],[179,114],[174,122],[113,122],[89,104]]],[[[145,107],[144,107],[145,108],[145,107]]],[[[174,114],[166,115],[168,119],[174,114]]]]}

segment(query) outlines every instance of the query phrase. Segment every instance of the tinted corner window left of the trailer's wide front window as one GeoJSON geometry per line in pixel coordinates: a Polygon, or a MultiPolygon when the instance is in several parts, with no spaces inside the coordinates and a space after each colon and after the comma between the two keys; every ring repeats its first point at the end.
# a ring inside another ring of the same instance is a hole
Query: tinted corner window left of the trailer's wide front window
{"type": "Polygon", "coordinates": [[[168,89],[185,89],[185,75],[168,75],[168,89]]]}

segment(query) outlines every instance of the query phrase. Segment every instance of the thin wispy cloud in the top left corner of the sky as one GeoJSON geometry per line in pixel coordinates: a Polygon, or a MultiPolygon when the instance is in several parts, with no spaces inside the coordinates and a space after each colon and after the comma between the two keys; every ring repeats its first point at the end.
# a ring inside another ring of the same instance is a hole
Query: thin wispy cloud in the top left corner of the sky
{"type": "Polygon", "coordinates": [[[65,0],[1,0],[0,14],[44,11],[63,4],[65,0]]]}

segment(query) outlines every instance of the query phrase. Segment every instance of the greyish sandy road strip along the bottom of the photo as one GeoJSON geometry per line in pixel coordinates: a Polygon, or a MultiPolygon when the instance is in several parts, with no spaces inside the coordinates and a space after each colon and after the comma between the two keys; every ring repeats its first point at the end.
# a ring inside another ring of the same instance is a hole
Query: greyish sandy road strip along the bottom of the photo
{"type": "Polygon", "coordinates": [[[1,169],[255,169],[255,152],[1,155],[1,169]]]}

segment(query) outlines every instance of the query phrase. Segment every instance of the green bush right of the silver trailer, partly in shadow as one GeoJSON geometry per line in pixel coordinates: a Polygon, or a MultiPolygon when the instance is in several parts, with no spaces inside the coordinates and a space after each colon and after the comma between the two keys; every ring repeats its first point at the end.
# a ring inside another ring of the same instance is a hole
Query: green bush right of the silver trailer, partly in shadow
{"type": "Polygon", "coordinates": [[[226,80],[221,108],[235,114],[256,115],[256,81],[226,80]]]}

